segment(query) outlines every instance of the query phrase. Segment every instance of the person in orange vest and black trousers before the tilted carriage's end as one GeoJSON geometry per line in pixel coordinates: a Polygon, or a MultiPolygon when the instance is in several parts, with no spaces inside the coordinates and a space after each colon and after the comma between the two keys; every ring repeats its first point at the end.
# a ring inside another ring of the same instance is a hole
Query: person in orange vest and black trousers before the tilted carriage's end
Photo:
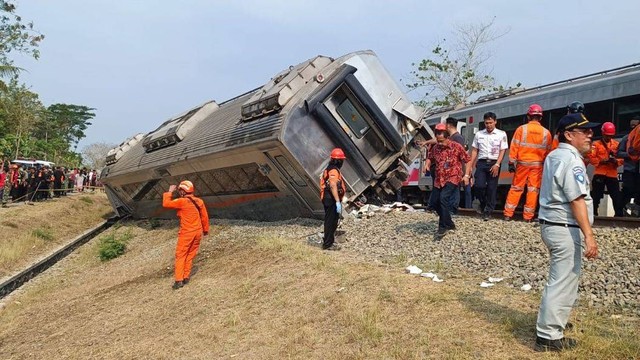
{"type": "Polygon", "coordinates": [[[323,250],[340,250],[335,242],[335,233],[342,213],[342,199],[347,191],[340,168],[347,157],[340,148],[331,151],[329,165],[320,178],[320,199],[324,206],[323,250]]]}

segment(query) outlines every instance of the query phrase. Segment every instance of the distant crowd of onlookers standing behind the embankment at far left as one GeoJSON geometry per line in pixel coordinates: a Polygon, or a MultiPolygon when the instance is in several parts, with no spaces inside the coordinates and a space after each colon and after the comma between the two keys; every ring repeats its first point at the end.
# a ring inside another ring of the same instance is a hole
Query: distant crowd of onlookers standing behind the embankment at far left
{"type": "Polygon", "coordinates": [[[44,201],[99,187],[98,173],[93,169],[29,166],[2,161],[0,166],[0,199],[2,206],[13,202],[44,201]]]}

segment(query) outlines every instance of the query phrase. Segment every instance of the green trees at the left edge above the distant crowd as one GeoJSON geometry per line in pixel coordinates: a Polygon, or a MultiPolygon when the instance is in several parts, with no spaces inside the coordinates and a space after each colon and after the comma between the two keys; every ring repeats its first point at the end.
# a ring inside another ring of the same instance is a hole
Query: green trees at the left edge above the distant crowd
{"type": "Polygon", "coordinates": [[[42,40],[44,35],[33,23],[16,14],[15,1],[0,0],[0,154],[78,166],[82,157],[75,150],[95,109],[62,103],[45,106],[37,93],[18,81],[22,69],[10,57],[20,53],[38,59],[42,40]]]}

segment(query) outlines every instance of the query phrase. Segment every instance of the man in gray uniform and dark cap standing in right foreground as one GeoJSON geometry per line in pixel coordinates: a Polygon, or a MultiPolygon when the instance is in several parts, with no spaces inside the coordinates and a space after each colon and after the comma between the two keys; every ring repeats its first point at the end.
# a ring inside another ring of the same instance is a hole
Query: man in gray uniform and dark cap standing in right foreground
{"type": "Polygon", "coordinates": [[[568,114],[558,123],[560,145],[544,161],[540,187],[540,231],[549,249],[549,278],[542,293],[536,324],[536,351],[562,351],[576,346],[565,338],[571,308],[578,298],[584,255],[593,259],[598,244],[593,236],[593,203],[583,156],[591,150],[593,127],[581,113],[568,114]]]}

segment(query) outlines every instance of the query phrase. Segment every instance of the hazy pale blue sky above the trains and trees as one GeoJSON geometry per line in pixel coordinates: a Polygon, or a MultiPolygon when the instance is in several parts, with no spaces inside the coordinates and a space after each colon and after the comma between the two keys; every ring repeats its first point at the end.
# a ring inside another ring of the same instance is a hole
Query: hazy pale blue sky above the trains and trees
{"type": "Polygon", "coordinates": [[[455,25],[496,18],[493,75],[525,87],[640,62],[640,1],[19,0],[46,38],[18,58],[45,105],[96,108],[80,147],[120,143],[315,55],[370,49],[398,80],[455,25]],[[455,4],[455,7],[454,5],[455,4]]]}

